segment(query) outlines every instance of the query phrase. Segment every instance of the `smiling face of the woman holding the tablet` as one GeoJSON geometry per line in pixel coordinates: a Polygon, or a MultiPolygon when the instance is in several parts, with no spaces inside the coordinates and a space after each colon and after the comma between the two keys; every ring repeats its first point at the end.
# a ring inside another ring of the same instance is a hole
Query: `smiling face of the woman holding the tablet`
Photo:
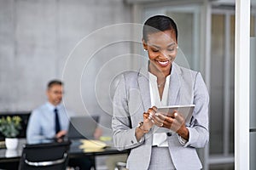
{"type": "Polygon", "coordinates": [[[148,41],[143,40],[143,46],[148,50],[149,71],[154,74],[169,75],[172,61],[177,54],[175,31],[167,30],[149,34],[148,41]]]}

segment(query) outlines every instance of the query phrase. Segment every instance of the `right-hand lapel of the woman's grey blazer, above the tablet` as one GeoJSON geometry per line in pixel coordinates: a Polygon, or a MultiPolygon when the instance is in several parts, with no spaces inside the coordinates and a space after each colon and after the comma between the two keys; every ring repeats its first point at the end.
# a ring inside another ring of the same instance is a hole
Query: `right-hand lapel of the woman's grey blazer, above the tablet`
{"type": "Polygon", "coordinates": [[[180,76],[178,67],[175,63],[172,63],[172,72],[169,83],[169,93],[168,93],[168,105],[179,105],[179,90],[181,87],[180,76]]]}

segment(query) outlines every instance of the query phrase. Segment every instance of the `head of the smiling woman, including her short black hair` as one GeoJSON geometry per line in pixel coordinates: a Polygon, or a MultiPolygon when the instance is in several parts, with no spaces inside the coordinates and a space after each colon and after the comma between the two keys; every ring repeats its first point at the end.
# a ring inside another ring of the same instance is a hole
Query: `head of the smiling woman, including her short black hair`
{"type": "Polygon", "coordinates": [[[157,77],[171,73],[177,54],[177,26],[168,17],[152,17],[143,27],[143,48],[148,51],[149,71],[157,77]],[[161,23],[161,24],[159,24],[161,23]]]}

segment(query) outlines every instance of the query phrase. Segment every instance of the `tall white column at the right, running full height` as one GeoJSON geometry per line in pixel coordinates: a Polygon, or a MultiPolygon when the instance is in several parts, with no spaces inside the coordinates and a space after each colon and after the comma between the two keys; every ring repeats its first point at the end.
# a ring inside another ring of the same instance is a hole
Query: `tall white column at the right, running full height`
{"type": "Polygon", "coordinates": [[[236,0],[235,168],[249,170],[250,0],[236,0]]]}

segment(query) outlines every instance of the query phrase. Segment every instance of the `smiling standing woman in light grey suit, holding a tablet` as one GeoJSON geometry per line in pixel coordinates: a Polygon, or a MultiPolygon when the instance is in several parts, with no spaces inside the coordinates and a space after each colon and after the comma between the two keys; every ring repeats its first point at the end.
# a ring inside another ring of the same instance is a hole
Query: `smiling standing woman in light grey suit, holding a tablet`
{"type": "Polygon", "coordinates": [[[148,68],[125,72],[113,96],[113,144],[131,149],[127,168],[201,169],[195,148],[209,138],[206,85],[197,71],[174,63],[177,26],[166,16],[149,18],[143,26],[143,48],[148,51],[148,68]],[[165,105],[190,105],[195,109],[189,123],[182,113],[156,113],[165,105]],[[172,133],[158,131],[170,129],[172,133]]]}

